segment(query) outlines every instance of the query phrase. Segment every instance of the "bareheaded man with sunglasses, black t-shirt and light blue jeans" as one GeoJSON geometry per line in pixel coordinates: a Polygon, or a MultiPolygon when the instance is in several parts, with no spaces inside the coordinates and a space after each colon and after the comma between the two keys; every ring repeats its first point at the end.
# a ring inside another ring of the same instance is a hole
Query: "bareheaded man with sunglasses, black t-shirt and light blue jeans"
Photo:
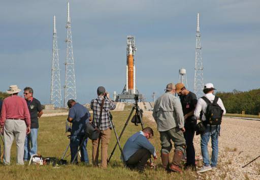
{"type": "Polygon", "coordinates": [[[37,136],[39,129],[39,118],[43,114],[43,109],[40,101],[33,97],[34,90],[31,87],[23,89],[23,96],[26,100],[30,112],[30,133],[26,135],[24,142],[24,161],[30,160],[30,157],[37,154],[37,136]]]}

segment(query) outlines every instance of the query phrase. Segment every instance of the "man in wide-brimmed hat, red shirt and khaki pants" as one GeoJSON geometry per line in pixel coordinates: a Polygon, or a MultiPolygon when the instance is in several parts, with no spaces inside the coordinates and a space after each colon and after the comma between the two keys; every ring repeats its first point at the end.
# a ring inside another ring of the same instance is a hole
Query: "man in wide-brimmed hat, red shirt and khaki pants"
{"type": "Polygon", "coordinates": [[[30,133],[30,114],[25,99],[17,96],[21,91],[17,85],[10,85],[10,95],[3,102],[1,110],[1,133],[4,133],[4,164],[10,164],[10,151],[14,140],[17,146],[17,164],[23,165],[24,141],[26,133],[30,133]]]}

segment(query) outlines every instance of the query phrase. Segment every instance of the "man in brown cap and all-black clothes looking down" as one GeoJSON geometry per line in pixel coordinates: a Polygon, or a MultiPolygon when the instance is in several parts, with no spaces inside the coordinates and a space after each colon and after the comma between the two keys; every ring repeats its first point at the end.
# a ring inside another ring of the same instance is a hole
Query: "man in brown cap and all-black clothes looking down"
{"type": "Polygon", "coordinates": [[[184,115],[184,128],[185,132],[183,133],[184,138],[186,140],[186,157],[187,162],[185,164],[185,168],[191,167],[192,169],[196,169],[195,166],[195,149],[193,146],[193,138],[195,134],[195,127],[197,124],[197,119],[193,118],[194,109],[196,108],[196,104],[198,102],[197,97],[194,93],[188,91],[183,83],[177,83],[175,85],[176,93],[180,97],[182,111],[184,115]]]}

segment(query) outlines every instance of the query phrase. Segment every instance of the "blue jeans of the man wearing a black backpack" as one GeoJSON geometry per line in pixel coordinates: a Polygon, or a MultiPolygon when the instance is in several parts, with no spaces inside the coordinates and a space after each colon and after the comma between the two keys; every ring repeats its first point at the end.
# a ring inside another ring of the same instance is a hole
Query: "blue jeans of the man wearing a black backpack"
{"type": "Polygon", "coordinates": [[[205,166],[217,166],[218,159],[218,135],[220,131],[220,126],[210,126],[206,127],[204,133],[201,134],[201,153],[203,157],[203,163],[205,166]],[[211,137],[211,146],[212,146],[212,155],[211,155],[211,164],[209,161],[209,152],[208,152],[208,143],[211,137]]]}

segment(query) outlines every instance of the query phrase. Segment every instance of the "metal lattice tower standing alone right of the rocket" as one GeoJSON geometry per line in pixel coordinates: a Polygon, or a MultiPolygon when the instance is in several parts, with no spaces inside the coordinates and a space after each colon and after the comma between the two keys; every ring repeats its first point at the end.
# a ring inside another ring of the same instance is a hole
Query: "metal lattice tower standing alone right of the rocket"
{"type": "Polygon", "coordinates": [[[197,31],[196,31],[196,56],[195,56],[195,76],[194,76],[194,93],[197,98],[204,95],[203,82],[203,63],[201,56],[201,33],[200,33],[200,15],[197,14],[197,31]]]}

